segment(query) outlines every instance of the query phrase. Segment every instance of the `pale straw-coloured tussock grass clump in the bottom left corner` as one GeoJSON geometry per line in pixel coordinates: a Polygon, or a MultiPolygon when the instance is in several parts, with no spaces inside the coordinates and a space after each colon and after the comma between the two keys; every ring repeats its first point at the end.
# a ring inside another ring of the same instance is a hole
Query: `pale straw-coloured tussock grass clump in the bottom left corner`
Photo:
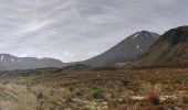
{"type": "Polygon", "coordinates": [[[27,86],[14,84],[0,85],[1,100],[0,107],[2,110],[36,110],[38,100],[35,96],[28,92],[27,86]]]}

